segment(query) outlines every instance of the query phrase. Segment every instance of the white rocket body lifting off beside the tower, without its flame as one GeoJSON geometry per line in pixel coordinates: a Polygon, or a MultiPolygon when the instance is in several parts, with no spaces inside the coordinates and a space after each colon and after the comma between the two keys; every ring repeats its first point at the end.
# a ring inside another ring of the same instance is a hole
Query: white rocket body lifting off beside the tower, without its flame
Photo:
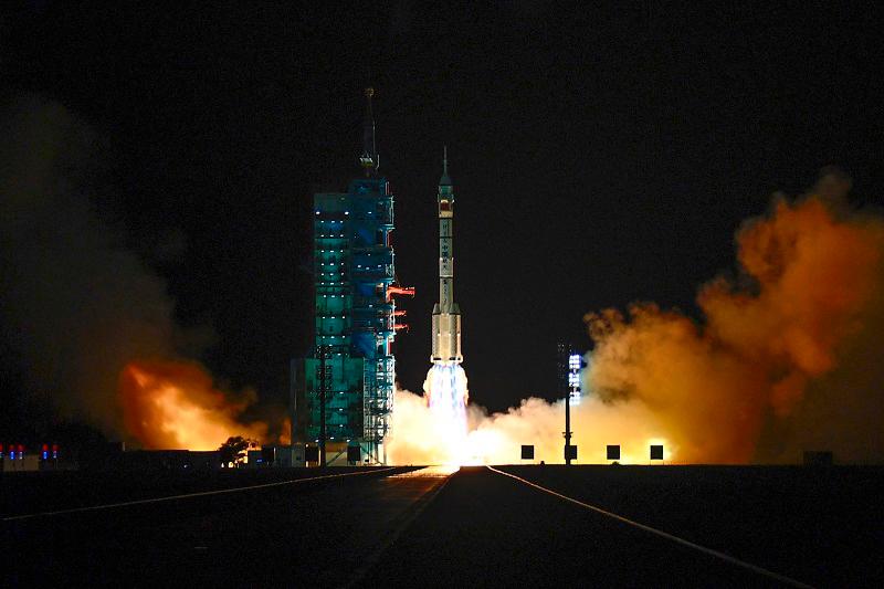
{"type": "Polygon", "coordinates": [[[454,302],[454,187],[448,148],[439,179],[439,303],[433,306],[433,364],[461,364],[461,308],[454,302]]]}

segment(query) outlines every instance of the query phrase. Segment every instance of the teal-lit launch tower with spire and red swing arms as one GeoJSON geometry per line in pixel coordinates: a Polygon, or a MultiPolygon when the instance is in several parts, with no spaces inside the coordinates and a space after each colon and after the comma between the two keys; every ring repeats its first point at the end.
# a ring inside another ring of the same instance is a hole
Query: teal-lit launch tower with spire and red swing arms
{"type": "Polygon", "coordinates": [[[347,192],[314,194],[314,346],[292,362],[292,463],[315,463],[325,427],[329,464],[386,463],[397,322],[393,194],[377,173],[371,94],[360,162],[347,192]],[[323,390],[325,424],[323,424],[323,390]],[[348,450],[349,449],[349,450],[348,450]],[[354,460],[358,457],[358,460],[354,460]],[[303,462],[302,462],[303,461],[303,462]]]}

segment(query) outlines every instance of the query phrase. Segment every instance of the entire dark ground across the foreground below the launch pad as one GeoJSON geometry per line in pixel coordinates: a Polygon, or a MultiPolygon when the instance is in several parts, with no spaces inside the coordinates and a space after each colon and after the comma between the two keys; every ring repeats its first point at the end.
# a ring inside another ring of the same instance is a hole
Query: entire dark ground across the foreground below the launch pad
{"type": "Polygon", "coordinates": [[[884,469],[501,470],[745,566],[486,467],[67,473],[0,480],[8,578],[130,587],[780,583],[762,568],[812,586],[884,583],[884,469]],[[203,494],[20,518],[193,493],[203,494]]]}

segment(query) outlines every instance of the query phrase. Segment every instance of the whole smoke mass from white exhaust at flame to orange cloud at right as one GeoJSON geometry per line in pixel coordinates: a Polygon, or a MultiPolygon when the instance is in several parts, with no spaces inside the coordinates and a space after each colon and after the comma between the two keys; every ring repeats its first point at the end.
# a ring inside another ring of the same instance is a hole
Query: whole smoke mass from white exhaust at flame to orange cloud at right
{"type": "MultiPolygon", "coordinates": [[[[603,462],[613,443],[624,462],[646,462],[650,443],[675,462],[794,462],[821,449],[884,460],[884,220],[851,209],[849,188],[824,170],[810,194],[777,197],[747,221],[739,277],[701,288],[702,322],[649,303],[587,315],[589,398],[572,409],[581,462],[603,462]]],[[[397,397],[390,452],[432,462],[411,431],[431,431],[431,416],[413,397],[397,397]]],[[[473,461],[518,462],[528,443],[562,461],[561,402],[490,417],[471,407],[470,429],[473,461]]]]}

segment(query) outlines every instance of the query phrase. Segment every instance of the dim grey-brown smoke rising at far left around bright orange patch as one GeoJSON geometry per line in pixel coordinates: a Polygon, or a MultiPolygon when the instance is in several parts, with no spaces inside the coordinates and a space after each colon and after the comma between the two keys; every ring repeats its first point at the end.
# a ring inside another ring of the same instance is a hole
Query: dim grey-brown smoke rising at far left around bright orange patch
{"type": "MultiPolygon", "coordinates": [[[[0,117],[0,318],[27,387],[65,418],[169,448],[175,438],[150,431],[156,421],[133,413],[149,403],[120,402],[120,374],[134,360],[176,358],[176,343],[192,338],[176,326],[164,281],[96,213],[99,137],[36,96],[8,101],[0,117]]],[[[199,380],[199,369],[189,370],[199,380]]],[[[160,370],[155,378],[168,376],[160,370]]],[[[224,396],[211,398],[217,408],[224,396]]]]}

